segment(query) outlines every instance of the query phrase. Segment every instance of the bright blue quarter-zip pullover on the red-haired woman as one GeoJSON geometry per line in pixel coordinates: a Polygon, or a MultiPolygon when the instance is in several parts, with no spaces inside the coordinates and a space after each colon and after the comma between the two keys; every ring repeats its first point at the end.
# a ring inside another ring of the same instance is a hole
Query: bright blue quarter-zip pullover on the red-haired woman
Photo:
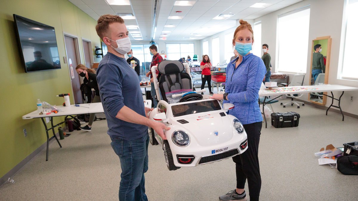
{"type": "Polygon", "coordinates": [[[261,122],[258,91],[266,74],[265,64],[252,53],[243,56],[236,69],[235,62],[236,59],[232,60],[226,68],[225,92],[229,93],[229,101],[224,100],[224,103],[234,104],[229,114],[242,124],[261,122]]]}

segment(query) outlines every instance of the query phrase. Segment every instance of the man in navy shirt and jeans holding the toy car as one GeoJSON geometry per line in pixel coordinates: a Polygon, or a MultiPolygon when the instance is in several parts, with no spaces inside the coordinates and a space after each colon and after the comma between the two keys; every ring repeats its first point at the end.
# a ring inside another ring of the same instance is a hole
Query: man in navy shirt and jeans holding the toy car
{"type": "Polygon", "coordinates": [[[96,25],[98,36],[107,45],[108,53],[97,69],[100,97],[108,124],[111,146],[121,163],[119,200],[148,200],[144,173],[148,170],[148,127],[166,139],[163,123],[151,121],[146,114],[135,70],[126,62],[131,49],[124,20],[117,15],[102,15],[96,25]]]}

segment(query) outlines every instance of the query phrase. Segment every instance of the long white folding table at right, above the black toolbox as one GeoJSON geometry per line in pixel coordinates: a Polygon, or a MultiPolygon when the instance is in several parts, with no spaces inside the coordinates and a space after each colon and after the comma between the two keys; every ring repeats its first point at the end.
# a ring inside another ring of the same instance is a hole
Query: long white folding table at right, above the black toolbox
{"type": "MultiPolygon", "coordinates": [[[[342,114],[342,121],[344,121],[344,115],[342,112],[342,108],[340,107],[340,99],[343,96],[343,93],[345,91],[354,91],[354,90],[358,90],[357,87],[349,87],[349,86],[344,86],[344,85],[337,85],[337,84],[327,84],[327,85],[309,85],[309,86],[294,86],[294,87],[276,87],[273,88],[273,90],[260,90],[258,92],[258,96],[259,97],[265,97],[263,99],[263,103],[262,103],[262,113],[263,113],[263,117],[265,118],[265,126],[267,128],[267,121],[266,121],[266,117],[265,117],[265,111],[264,111],[264,107],[266,104],[270,103],[272,100],[275,100],[276,98],[279,98],[281,95],[286,95],[286,94],[301,94],[301,93],[314,93],[314,92],[331,92],[332,96],[330,95],[326,95],[323,94],[325,96],[328,96],[330,98],[332,98],[332,103],[331,105],[328,107],[328,109],[326,110],[326,115],[328,113],[328,110],[331,107],[335,107],[335,108],[339,108],[340,113],[342,114]],[[302,90],[291,90],[292,88],[301,88],[302,90]],[[334,98],[333,92],[334,91],[341,91],[342,94],[339,96],[339,98],[334,98]],[[271,99],[270,101],[266,102],[266,98],[269,97],[270,95],[278,95],[278,97],[271,99]],[[338,106],[334,106],[333,105],[333,100],[338,100],[338,106]]],[[[260,104],[260,99],[259,99],[259,104],[260,104]]]]}

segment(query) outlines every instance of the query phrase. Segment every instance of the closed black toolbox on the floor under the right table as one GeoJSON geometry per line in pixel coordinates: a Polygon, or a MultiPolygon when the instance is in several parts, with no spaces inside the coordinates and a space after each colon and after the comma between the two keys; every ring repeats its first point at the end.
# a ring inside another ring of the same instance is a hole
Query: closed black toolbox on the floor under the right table
{"type": "Polygon", "coordinates": [[[300,114],[296,112],[271,113],[271,125],[275,128],[288,128],[298,126],[300,114]]]}

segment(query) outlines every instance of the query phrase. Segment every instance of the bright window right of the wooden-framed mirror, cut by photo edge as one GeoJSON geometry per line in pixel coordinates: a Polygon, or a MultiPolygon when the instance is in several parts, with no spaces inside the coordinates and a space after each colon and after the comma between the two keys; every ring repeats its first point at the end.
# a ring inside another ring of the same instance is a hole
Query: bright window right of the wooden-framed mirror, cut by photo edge
{"type": "Polygon", "coordinates": [[[358,46],[358,26],[357,26],[358,0],[349,0],[347,6],[347,29],[345,33],[344,55],[343,55],[343,79],[358,80],[358,67],[356,49],[358,46]]]}

